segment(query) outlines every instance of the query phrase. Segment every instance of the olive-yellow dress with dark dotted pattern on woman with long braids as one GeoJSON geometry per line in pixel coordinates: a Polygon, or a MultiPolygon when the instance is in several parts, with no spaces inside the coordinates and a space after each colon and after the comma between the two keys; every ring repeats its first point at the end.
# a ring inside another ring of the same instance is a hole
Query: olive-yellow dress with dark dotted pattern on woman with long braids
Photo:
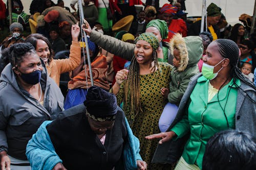
{"type": "MultiPolygon", "coordinates": [[[[172,66],[168,63],[159,62],[159,68],[153,74],[140,75],[140,102],[142,112],[135,117],[126,115],[128,121],[134,118],[133,124],[130,124],[133,133],[140,140],[140,155],[148,164],[148,169],[172,169],[172,165],[152,164],[151,160],[155,153],[159,140],[147,140],[145,136],[154,133],[160,133],[158,121],[165,104],[168,102],[161,94],[161,88],[169,87],[170,71],[172,66]]],[[[120,104],[123,100],[123,84],[117,95],[117,102],[120,104]]],[[[129,104],[124,108],[125,114],[129,114],[129,104]]]]}

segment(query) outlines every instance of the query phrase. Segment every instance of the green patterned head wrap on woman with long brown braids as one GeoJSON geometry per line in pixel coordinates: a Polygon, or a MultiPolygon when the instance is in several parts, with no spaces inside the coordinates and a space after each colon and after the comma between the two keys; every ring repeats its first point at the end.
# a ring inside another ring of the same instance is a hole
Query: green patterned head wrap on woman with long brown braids
{"type": "Polygon", "coordinates": [[[142,33],[136,38],[135,42],[137,43],[139,40],[148,42],[155,51],[159,47],[159,41],[153,33],[142,33]]]}

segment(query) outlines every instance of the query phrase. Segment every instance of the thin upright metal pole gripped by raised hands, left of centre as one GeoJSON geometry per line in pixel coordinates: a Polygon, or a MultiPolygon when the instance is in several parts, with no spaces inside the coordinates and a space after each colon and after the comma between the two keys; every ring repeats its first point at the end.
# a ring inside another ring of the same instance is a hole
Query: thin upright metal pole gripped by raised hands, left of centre
{"type": "MultiPolygon", "coordinates": [[[[83,16],[83,8],[82,8],[81,0],[78,1],[78,6],[79,6],[79,11],[80,11],[80,23],[83,23],[84,16],[83,16]]],[[[82,27],[82,25],[80,27],[82,27]]],[[[89,66],[91,85],[93,86],[93,73],[92,73],[92,68],[91,68],[91,59],[90,59],[88,40],[87,40],[87,37],[86,37],[86,32],[82,31],[81,34],[84,35],[84,41],[86,42],[87,62],[88,62],[88,66],[89,66]]],[[[86,61],[84,60],[84,63],[85,62],[86,61]]],[[[86,65],[84,65],[84,66],[86,66],[86,65]]],[[[86,72],[86,74],[87,74],[87,72],[86,72]]]]}

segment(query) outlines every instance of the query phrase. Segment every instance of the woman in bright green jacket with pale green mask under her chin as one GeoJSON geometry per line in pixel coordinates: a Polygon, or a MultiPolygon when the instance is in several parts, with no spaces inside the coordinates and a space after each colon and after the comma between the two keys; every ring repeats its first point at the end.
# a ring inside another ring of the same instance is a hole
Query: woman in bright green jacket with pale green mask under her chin
{"type": "MultiPolygon", "coordinates": [[[[256,136],[256,89],[242,75],[238,60],[239,48],[232,40],[217,39],[209,44],[203,57],[203,76],[200,74],[191,79],[169,131],[146,137],[161,138],[158,149],[163,152],[157,150],[155,157],[170,157],[169,153],[164,154],[173,149],[174,141],[170,139],[188,134],[189,139],[175,169],[202,169],[206,143],[217,132],[237,129],[256,136]],[[170,143],[161,147],[166,141],[170,143]]],[[[166,157],[160,159],[167,160],[166,157]]],[[[160,159],[158,161],[162,161],[160,159]]]]}

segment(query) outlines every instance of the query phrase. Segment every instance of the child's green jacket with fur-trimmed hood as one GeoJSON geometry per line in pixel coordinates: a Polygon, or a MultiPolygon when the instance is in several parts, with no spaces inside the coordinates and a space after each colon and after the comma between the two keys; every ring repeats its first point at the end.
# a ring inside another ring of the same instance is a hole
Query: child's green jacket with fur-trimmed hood
{"type": "Polygon", "coordinates": [[[203,55],[203,41],[199,36],[182,38],[176,34],[170,41],[171,54],[174,54],[175,47],[180,52],[180,66],[174,67],[170,73],[172,81],[169,84],[168,101],[179,106],[190,78],[199,73],[197,63],[203,55]]]}

